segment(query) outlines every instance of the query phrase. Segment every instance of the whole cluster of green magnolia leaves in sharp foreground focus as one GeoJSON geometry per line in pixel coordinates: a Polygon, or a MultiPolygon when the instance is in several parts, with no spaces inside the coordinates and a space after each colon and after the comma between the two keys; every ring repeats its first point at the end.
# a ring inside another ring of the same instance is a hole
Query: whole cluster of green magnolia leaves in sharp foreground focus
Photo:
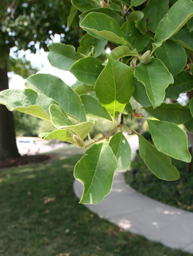
{"type": "Polygon", "coordinates": [[[27,79],[27,89],[3,91],[0,103],[10,111],[50,120],[57,130],[42,132],[44,140],[90,146],[74,168],[74,177],[84,185],[82,203],[98,204],[109,194],[114,172],[130,166],[131,148],[122,130],[128,129],[128,116],[145,118],[132,109],[132,96],[157,119],[147,120],[154,145],[136,132],[143,161],[158,178],[178,179],[170,157],[191,161],[187,136],[178,124],[193,132],[193,100],[187,106],[163,101],[165,97],[175,100],[193,87],[193,2],[71,2],[68,25],[78,9],[79,25],[87,33],[77,52],[71,45],[51,44],[48,58],[52,66],[74,74],[77,83],[69,87],[56,76],[35,74],[27,79]],[[101,61],[108,42],[116,47],[108,61],[101,61]],[[95,118],[111,120],[112,130],[94,140],[89,131],[95,118]],[[117,129],[121,131],[106,143],[117,129]],[[85,145],[87,136],[90,142],[85,145]]]}

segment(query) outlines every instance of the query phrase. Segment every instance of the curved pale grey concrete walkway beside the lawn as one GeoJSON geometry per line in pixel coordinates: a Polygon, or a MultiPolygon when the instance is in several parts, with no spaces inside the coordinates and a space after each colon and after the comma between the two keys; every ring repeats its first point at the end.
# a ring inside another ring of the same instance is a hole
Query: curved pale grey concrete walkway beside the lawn
{"type": "MultiPolygon", "coordinates": [[[[138,148],[138,138],[133,136],[129,142],[133,158],[138,148]]],[[[81,199],[83,185],[77,180],[74,182],[74,192],[81,199]]],[[[99,205],[85,206],[125,231],[142,234],[171,248],[193,253],[193,214],[137,193],[125,184],[121,172],[115,173],[112,190],[99,205]]]]}

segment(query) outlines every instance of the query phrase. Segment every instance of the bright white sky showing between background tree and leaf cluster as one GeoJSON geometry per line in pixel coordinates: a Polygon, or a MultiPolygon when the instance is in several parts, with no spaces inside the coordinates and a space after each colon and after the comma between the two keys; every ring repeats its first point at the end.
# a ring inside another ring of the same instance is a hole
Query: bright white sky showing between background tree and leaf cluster
{"type": "MultiPolygon", "coordinates": [[[[60,36],[55,35],[54,42],[60,41],[60,36]]],[[[38,47],[38,46],[37,46],[38,47]]],[[[20,52],[20,56],[24,54],[24,51],[20,52]]],[[[25,52],[26,58],[31,61],[34,65],[38,66],[40,71],[38,73],[53,74],[53,76],[60,77],[65,83],[70,86],[77,81],[76,77],[73,76],[69,71],[59,70],[58,68],[52,67],[50,62],[47,60],[48,52],[43,49],[38,50],[36,54],[30,54],[29,51],[25,52]]],[[[13,72],[9,73],[9,88],[10,89],[25,89],[24,86],[26,80],[22,77],[15,75],[13,72]]]]}

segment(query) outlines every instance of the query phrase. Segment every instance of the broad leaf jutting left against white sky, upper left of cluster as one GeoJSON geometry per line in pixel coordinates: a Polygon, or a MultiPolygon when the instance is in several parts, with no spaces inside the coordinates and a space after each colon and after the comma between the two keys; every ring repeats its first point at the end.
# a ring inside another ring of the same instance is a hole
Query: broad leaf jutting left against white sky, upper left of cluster
{"type": "Polygon", "coordinates": [[[47,56],[50,64],[60,70],[70,70],[72,65],[80,58],[85,58],[83,54],[78,54],[74,46],[61,44],[60,42],[49,45],[49,55],[47,56]]]}

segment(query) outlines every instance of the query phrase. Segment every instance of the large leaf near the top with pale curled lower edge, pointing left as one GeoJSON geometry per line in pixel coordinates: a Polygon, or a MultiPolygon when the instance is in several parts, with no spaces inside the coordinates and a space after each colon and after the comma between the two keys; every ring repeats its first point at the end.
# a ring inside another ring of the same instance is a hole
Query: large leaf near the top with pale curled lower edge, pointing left
{"type": "Polygon", "coordinates": [[[89,13],[81,22],[81,27],[96,38],[112,41],[116,44],[127,45],[132,48],[124,39],[124,33],[122,33],[116,21],[106,14],[89,13]]]}

